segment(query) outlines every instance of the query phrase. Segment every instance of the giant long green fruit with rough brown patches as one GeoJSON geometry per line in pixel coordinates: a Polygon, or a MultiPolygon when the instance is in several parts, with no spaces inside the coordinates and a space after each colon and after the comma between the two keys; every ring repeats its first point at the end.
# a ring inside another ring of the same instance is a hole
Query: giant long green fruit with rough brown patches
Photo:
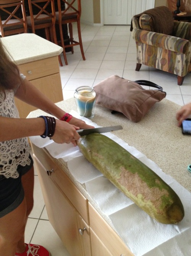
{"type": "Polygon", "coordinates": [[[92,133],[77,143],[84,157],[152,218],[164,224],[183,219],[184,208],[174,190],[115,141],[92,133]]]}

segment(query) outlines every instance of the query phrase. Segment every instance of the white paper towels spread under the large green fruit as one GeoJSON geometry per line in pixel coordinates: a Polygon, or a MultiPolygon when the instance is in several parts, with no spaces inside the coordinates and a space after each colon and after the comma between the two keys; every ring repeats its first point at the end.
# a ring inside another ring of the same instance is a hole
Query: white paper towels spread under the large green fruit
{"type": "MultiPolygon", "coordinates": [[[[91,120],[79,116],[75,111],[71,111],[71,114],[83,119],[87,124],[99,127],[91,120]]],[[[56,144],[52,140],[42,139],[40,136],[31,137],[30,139],[38,147],[46,147],[53,157],[62,158],[68,162],[68,169],[71,174],[78,182],[85,183],[92,200],[110,218],[115,230],[135,256],[191,255],[191,193],[171,176],[163,173],[158,165],[147,159],[134,147],[130,147],[112,133],[105,133],[104,135],[113,139],[144,162],[175,190],[185,209],[185,217],[178,225],[164,225],[152,219],[118,190],[91,163],[87,162],[78,146],[56,144]]]]}

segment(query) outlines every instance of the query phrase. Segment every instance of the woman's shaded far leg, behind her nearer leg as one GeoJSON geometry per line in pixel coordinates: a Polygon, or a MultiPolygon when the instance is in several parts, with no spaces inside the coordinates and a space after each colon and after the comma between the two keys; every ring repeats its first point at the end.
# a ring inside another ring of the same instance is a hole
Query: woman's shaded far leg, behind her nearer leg
{"type": "MultiPolygon", "coordinates": [[[[26,226],[28,216],[31,213],[33,202],[34,202],[33,200],[34,168],[33,167],[22,176],[21,181],[24,188],[24,198],[26,201],[26,216],[24,218],[25,226],[26,226]]],[[[24,233],[23,233],[23,236],[18,241],[16,252],[23,253],[25,251],[25,248],[26,248],[26,244],[24,243],[24,233]]]]}

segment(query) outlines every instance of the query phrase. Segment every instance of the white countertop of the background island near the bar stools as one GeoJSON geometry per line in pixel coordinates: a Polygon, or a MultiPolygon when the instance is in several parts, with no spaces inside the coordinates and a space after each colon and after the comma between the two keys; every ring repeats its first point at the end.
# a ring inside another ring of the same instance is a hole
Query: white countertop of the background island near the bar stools
{"type": "Polygon", "coordinates": [[[1,41],[17,65],[58,56],[63,51],[62,47],[33,33],[5,36],[1,41]]]}

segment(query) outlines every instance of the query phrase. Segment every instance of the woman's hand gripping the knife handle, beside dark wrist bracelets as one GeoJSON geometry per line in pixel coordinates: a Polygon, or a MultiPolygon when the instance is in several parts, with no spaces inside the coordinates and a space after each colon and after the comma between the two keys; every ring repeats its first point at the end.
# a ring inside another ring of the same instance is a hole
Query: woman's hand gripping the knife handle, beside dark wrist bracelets
{"type": "Polygon", "coordinates": [[[76,140],[80,138],[76,130],[79,130],[78,126],[56,119],[55,133],[51,139],[59,144],[71,142],[76,146],[76,140]]]}

